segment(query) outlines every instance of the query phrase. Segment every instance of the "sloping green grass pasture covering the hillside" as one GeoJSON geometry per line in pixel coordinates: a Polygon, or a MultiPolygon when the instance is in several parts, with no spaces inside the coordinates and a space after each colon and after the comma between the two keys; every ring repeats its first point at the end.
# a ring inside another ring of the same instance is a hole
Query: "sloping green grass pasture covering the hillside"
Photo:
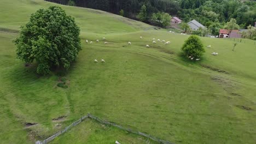
{"type": "MultiPolygon", "coordinates": [[[[60,5],[75,17],[83,47],[64,75],[69,87],[62,89],[56,87],[58,73],[39,76],[33,65],[24,67],[12,43],[30,14],[50,5],[55,4],[0,2],[0,143],[43,140],[89,112],[174,143],[256,142],[253,41],[238,43],[233,52],[232,40],[201,38],[212,47],[201,61],[192,62],[180,50],[188,35],[156,31],[103,11],[60,5]],[[103,37],[109,44],[103,44],[103,37]],[[153,38],[171,44],[153,45],[153,38]],[[85,39],[94,43],[86,44],[85,39]],[[211,56],[212,52],[219,56],[211,56]],[[94,63],[94,59],[106,63],[94,63]],[[60,116],[66,117],[53,121],[60,116]],[[25,123],[37,125],[26,127],[25,123]]],[[[53,143],[113,143],[115,137],[125,143],[146,142],[102,127],[83,122],[53,143]]]]}

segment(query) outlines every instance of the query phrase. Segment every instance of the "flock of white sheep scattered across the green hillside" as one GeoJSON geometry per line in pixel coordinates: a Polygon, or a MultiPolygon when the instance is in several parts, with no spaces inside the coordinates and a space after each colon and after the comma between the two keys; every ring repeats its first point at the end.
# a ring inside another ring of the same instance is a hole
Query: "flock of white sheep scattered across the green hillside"
{"type": "MultiPolygon", "coordinates": [[[[139,37],[140,39],[143,39],[143,37],[139,37]]],[[[104,40],[104,44],[108,44],[108,42],[106,41],[106,38],[102,38],[103,40],[104,40]]],[[[160,42],[160,43],[164,43],[165,45],[166,44],[170,44],[171,42],[170,41],[167,41],[167,42],[165,42],[165,40],[160,40],[160,39],[158,39],[157,40],[158,42],[160,42]]],[[[86,39],[86,41],[85,41],[86,43],[89,43],[89,41],[86,39]]],[[[100,40],[96,40],[96,43],[99,43],[100,42],[100,40]]],[[[90,41],[90,44],[92,44],[93,42],[92,41],[90,41]]],[[[155,41],[155,38],[153,38],[152,39],[152,44],[156,44],[156,41],[155,41]]],[[[128,45],[131,45],[131,42],[130,41],[128,41],[128,45]]],[[[149,45],[146,45],[146,47],[150,47],[149,45]]],[[[211,45],[208,45],[208,46],[206,46],[207,48],[210,48],[211,47],[211,45]]],[[[213,52],[211,55],[213,55],[213,56],[218,56],[218,52],[213,52]]],[[[189,59],[191,59],[191,60],[194,60],[195,59],[195,57],[193,57],[193,56],[189,56],[188,57],[189,59]]],[[[196,58],[195,59],[195,61],[199,61],[200,60],[200,58],[196,58]]],[[[94,59],[94,62],[95,63],[97,63],[98,61],[97,61],[97,59],[94,59]]],[[[104,59],[101,59],[101,62],[102,63],[105,63],[105,61],[104,61],[104,59]]]]}

